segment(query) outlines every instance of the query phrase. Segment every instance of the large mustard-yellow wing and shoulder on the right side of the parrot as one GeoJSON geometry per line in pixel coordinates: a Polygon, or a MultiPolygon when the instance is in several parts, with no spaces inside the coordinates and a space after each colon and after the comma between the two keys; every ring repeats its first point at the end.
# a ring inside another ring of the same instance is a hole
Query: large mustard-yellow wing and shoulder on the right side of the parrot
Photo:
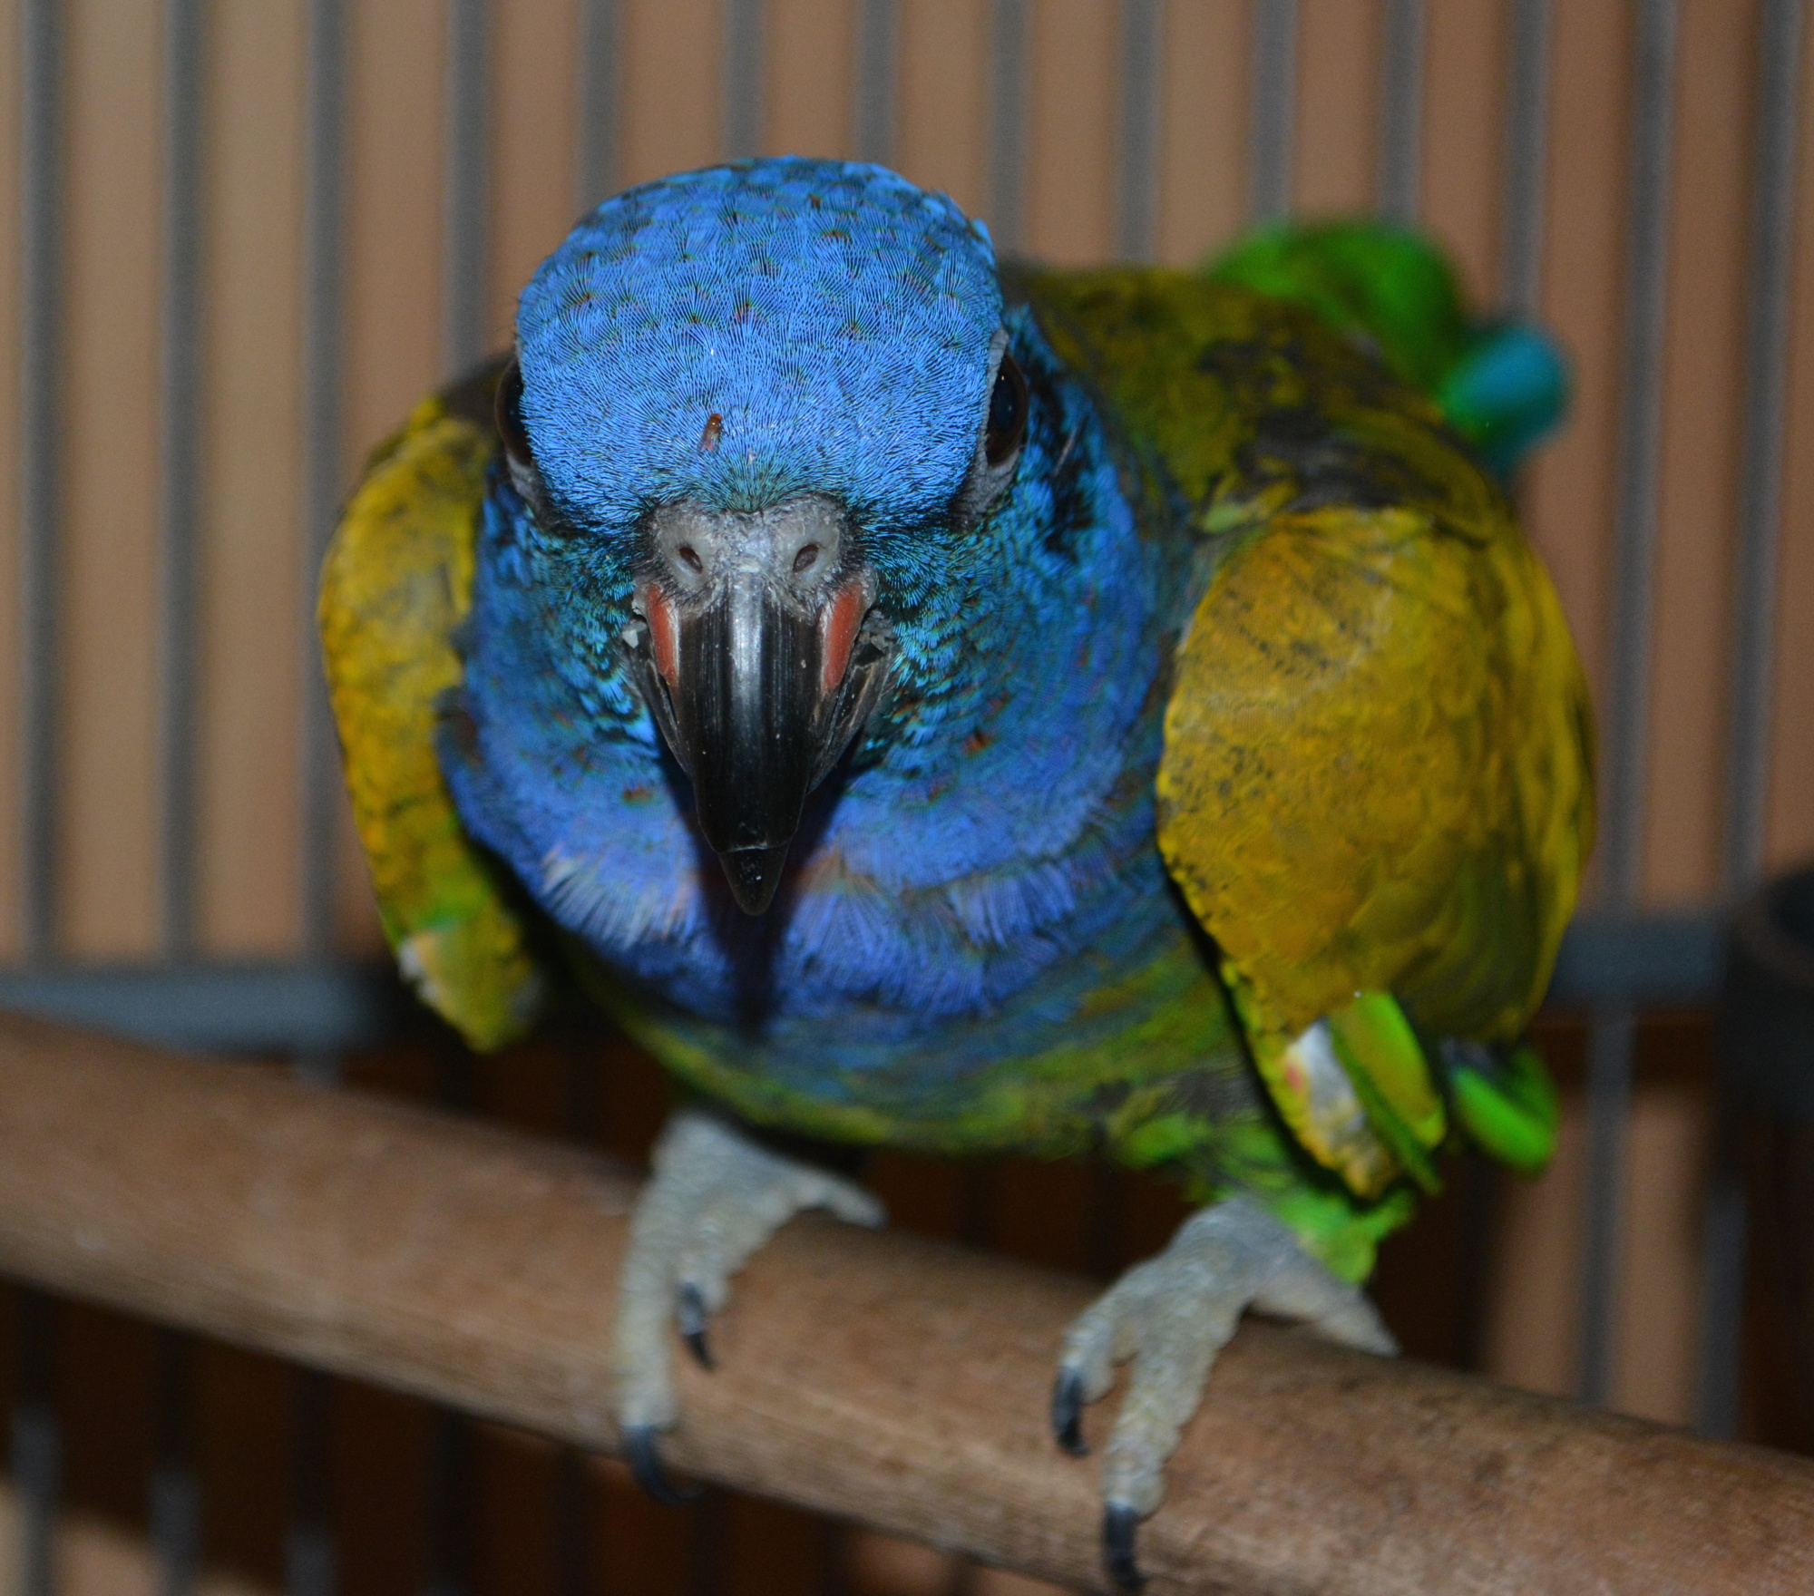
{"type": "Polygon", "coordinates": [[[1509,504],[1295,307],[1130,270],[1029,297],[1199,539],[1159,847],[1284,1121],[1360,1197],[1435,1184],[1449,1105],[1542,1164],[1555,1101],[1518,1037],[1591,845],[1591,735],[1509,504]]]}

